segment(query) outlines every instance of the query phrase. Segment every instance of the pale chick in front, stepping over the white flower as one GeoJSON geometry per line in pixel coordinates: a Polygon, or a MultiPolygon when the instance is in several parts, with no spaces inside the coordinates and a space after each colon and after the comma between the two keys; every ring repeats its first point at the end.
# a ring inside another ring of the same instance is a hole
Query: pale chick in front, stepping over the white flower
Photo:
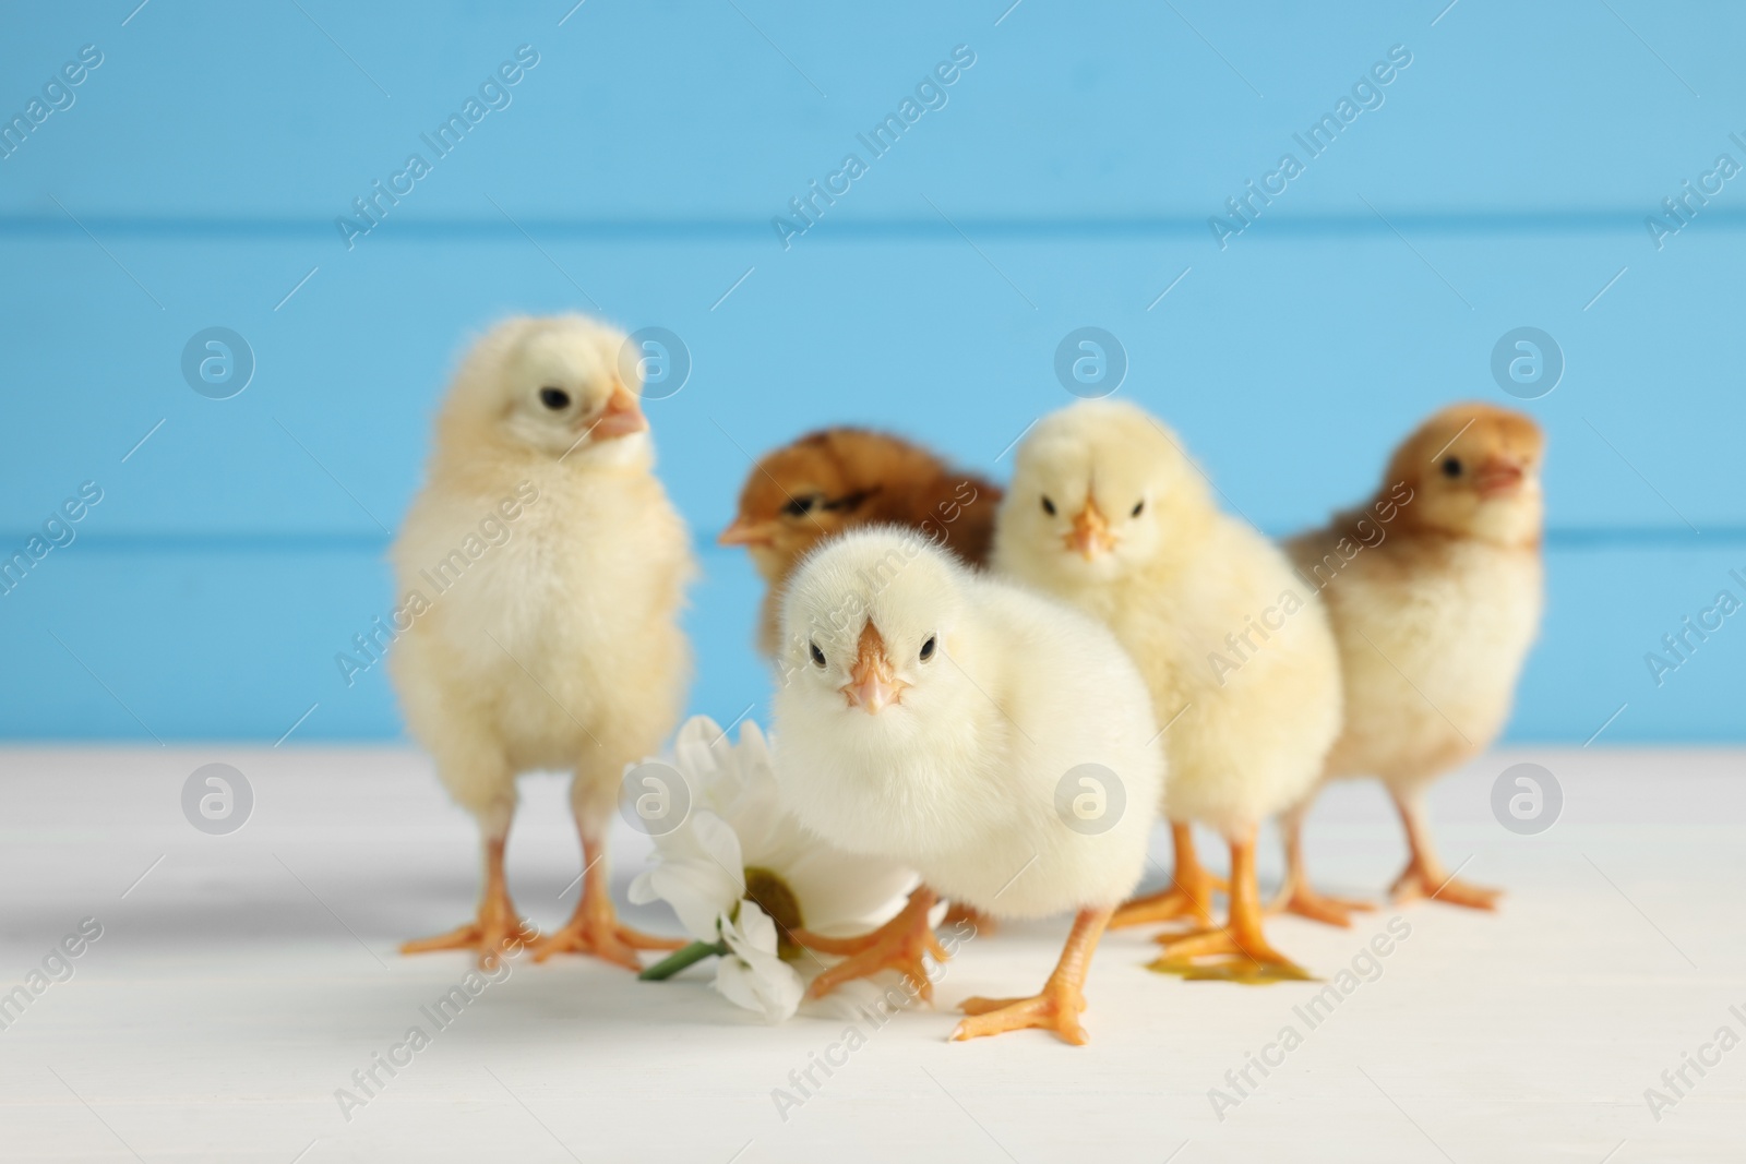
{"type": "Polygon", "coordinates": [[[973,572],[915,531],[873,527],[810,553],[782,602],[775,771],[814,832],[922,874],[814,996],[882,969],[925,984],[934,892],[995,918],[1074,911],[1032,998],[969,998],[953,1038],[1041,1026],[1086,1040],[1084,976],[1140,880],[1163,752],[1145,681],[1098,623],[973,572]]]}

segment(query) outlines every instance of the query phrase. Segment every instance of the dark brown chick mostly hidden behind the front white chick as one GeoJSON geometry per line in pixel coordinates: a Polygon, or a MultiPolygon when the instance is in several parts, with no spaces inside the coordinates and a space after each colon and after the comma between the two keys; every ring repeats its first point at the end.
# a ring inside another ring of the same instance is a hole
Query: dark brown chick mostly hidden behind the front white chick
{"type": "Polygon", "coordinates": [[[829,428],[765,454],[718,541],[746,546],[768,585],[758,649],[775,656],[782,585],[815,544],[859,525],[904,525],[981,567],[999,504],[997,485],[953,469],[920,445],[870,429],[829,428]]]}

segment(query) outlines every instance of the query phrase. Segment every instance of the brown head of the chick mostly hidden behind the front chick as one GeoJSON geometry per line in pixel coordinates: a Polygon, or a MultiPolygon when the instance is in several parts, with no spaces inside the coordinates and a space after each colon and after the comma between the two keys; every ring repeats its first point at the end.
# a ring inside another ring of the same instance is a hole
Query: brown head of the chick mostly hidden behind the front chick
{"type": "Polygon", "coordinates": [[[746,546],[765,581],[780,581],[815,544],[868,524],[882,497],[939,468],[925,450],[883,433],[807,433],[758,462],[719,543],[746,546]]]}

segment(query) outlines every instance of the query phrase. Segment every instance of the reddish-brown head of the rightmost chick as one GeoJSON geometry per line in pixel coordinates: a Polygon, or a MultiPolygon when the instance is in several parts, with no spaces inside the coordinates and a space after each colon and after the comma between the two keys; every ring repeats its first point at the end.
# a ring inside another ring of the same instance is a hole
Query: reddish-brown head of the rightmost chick
{"type": "MultiPolygon", "coordinates": [[[[1533,544],[1545,511],[1545,436],[1529,417],[1495,405],[1451,405],[1421,424],[1388,464],[1383,494],[1411,489],[1409,529],[1500,544],[1533,544]]],[[[1395,497],[1399,503],[1400,497],[1395,497]]]]}

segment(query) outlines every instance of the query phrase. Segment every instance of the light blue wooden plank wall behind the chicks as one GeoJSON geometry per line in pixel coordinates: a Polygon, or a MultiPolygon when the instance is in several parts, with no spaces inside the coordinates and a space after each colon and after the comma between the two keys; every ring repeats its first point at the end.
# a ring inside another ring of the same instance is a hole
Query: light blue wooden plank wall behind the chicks
{"type": "Polygon", "coordinates": [[[691,351],[650,412],[705,571],[693,707],[723,721],[766,689],[754,579],[711,544],[739,447],[861,421],[1002,473],[1096,325],[1123,393],[1287,532],[1437,405],[1509,403],[1491,349],[1533,325],[1568,366],[1524,405],[1550,607],[1514,738],[1622,705],[1601,743],[1746,738],[1746,616],[1659,688],[1643,661],[1746,599],[1746,176],[1660,248],[1645,227],[1746,164],[1737,7],[136,2],[0,14],[0,117],[103,54],[0,159],[0,548],[103,489],[0,597],[0,735],[396,735],[381,672],[346,688],[333,654],[388,607],[447,370],[503,314],[583,309],[691,351]],[[335,216],[519,45],[510,105],[347,248],[335,216]],[[957,45],[945,106],[873,159],[856,134],[957,45]],[[1393,45],[1381,106],[1220,250],[1208,218],[1393,45]],[[784,250],[772,218],[849,152],[868,173],[784,250]],[[222,401],[180,372],[215,325],[258,365],[222,401]]]}

